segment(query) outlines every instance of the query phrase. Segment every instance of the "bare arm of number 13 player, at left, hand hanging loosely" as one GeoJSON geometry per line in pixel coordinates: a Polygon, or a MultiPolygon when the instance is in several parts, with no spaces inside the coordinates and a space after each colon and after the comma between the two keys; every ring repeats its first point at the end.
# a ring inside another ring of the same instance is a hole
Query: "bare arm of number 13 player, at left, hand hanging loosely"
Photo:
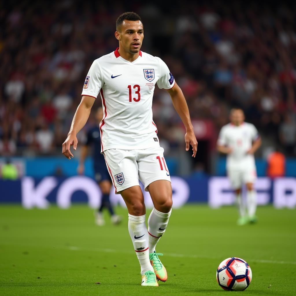
{"type": "Polygon", "coordinates": [[[62,144],[62,153],[68,159],[71,159],[71,157],[74,157],[70,151],[70,146],[73,145],[74,150],[76,150],[77,143],[78,143],[76,135],[81,130],[81,128],[85,126],[86,121],[89,118],[91,107],[94,104],[94,101],[95,101],[94,97],[83,96],[80,104],[77,107],[77,110],[72,120],[70,131],[68,133],[68,137],[65,140],[65,142],[62,144]]]}

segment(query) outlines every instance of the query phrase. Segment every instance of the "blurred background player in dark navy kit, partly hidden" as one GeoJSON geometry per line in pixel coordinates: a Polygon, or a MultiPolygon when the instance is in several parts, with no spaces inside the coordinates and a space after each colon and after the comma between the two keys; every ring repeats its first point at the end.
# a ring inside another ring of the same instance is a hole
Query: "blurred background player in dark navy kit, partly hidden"
{"type": "Polygon", "coordinates": [[[101,154],[101,136],[100,136],[100,122],[103,119],[103,108],[99,107],[96,111],[95,118],[97,123],[89,129],[87,132],[87,140],[85,145],[81,149],[80,162],[78,166],[78,173],[82,175],[84,173],[84,161],[88,155],[89,146],[92,146],[92,157],[94,163],[95,179],[99,184],[102,191],[102,204],[96,211],[96,224],[102,226],[105,224],[103,209],[104,207],[109,210],[111,215],[111,221],[113,224],[118,224],[121,221],[121,217],[115,215],[113,207],[109,200],[109,194],[112,187],[112,181],[109,172],[106,167],[104,156],[101,154]]]}

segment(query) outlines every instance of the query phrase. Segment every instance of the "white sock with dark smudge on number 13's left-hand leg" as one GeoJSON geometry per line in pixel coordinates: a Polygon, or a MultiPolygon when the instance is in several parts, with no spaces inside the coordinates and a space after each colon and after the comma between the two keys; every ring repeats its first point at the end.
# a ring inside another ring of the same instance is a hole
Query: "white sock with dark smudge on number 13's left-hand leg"
{"type": "Polygon", "coordinates": [[[141,275],[148,270],[153,271],[149,260],[148,232],[145,217],[146,215],[133,216],[128,214],[128,231],[141,266],[141,275]]]}

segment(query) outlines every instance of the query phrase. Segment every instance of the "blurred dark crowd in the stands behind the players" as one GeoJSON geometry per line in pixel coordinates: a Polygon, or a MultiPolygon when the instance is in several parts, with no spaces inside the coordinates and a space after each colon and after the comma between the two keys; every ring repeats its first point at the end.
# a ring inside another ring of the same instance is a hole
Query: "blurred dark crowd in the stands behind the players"
{"type": "MultiPolygon", "coordinates": [[[[135,11],[142,51],[167,63],[191,118],[213,122],[214,141],[230,108],[242,107],[263,148],[295,156],[295,3],[159,2],[0,4],[0,154],[61,154],[91,63],[118,47],[116,18],[135,11]]],[[[167,151],[185,147],[181,120],[157,86],[153,112],[167,151]]]]}

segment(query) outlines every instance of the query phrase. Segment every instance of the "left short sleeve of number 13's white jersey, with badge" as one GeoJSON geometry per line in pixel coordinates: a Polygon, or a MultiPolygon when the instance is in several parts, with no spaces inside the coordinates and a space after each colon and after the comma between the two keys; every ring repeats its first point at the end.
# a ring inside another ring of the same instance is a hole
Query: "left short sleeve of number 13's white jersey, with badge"
{"type": "Polygon", "coordinates": [[[101,87],[103,85],[102,73],[99,66],[99,62],[95,60],[91,67],[89,68],[89,72],[84,81],[82,96],[93,96],[97,97],[101,87]]]}

